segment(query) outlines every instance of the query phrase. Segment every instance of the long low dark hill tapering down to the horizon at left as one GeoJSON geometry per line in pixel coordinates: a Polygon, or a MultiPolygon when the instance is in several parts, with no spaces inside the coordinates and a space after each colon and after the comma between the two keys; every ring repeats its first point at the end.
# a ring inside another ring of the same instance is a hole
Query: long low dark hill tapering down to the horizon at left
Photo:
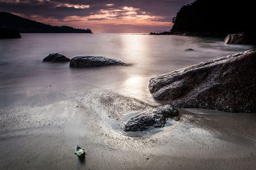
{"type": "Polygon", "coordinates": [[[0,27],[15,29],[21,33],[92,33],[90,29],[42,24],[6,12],[0,12],[0,27]]]}

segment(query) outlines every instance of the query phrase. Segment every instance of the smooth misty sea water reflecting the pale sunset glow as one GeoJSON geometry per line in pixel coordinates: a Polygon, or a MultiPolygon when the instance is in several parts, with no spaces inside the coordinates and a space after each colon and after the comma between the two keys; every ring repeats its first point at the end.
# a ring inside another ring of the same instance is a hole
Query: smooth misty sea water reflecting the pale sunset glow
{"type": "Polygon", "coordinates": [[[222,40],[142,34],[22,34],[21,39],[0,39],[0,106],[50,88],[56,94],[113,90],[150,100],[147,86],[153,76],[252,48],[224,45],[222,40]],[[195,51],[184,52],[186,48],[195,51]],[[129,66],[74,69],[68,63],[42,62],[54,52],[70,59],[111,57],[129,66]]]}

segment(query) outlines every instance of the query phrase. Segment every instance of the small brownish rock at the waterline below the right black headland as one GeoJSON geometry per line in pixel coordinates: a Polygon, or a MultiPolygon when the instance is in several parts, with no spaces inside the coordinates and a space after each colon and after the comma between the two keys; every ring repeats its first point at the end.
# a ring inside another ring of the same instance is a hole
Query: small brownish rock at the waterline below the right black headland
{"type": "Polygon", "coordinates": [[[246,36],[245,33],[228,34],[224,40],[225,44],[251,44],[252,41],[246,36]]]}

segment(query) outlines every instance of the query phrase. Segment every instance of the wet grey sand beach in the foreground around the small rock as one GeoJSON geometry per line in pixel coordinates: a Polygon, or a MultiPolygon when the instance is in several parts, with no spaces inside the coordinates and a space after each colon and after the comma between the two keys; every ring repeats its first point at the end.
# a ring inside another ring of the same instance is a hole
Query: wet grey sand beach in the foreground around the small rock
{"type": "Polygon", "coordinates": [[[180,108],[163,128],[122,131],[156,105],[105,90],[17,96],[0,110],[0,169],[255,169],[256,114],[180,108]]]}

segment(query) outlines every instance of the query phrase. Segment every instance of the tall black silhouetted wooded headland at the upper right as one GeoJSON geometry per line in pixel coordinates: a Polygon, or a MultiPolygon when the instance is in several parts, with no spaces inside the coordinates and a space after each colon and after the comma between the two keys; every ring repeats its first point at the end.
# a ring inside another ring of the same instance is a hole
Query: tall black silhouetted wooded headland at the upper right
{"type": "Polygon", "coordinates": [[[246,32],[255,35],[253,1],[196,0],[180,8],[173,18],[172,34],[227,36],[246,32]]]}

